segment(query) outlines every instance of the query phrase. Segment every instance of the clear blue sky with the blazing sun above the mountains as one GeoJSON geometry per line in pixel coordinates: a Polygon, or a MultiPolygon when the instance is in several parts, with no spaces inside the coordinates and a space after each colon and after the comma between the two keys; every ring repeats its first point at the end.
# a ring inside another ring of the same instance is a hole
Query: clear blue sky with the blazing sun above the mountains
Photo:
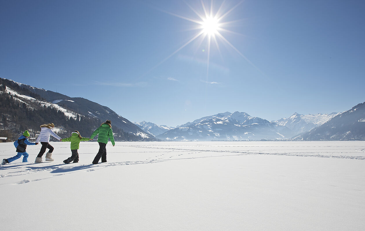
{"type": "Polygon", "coordinates": [[[365,1],[222,2],[0,0],[0,77],[168,126],[365,101],[365,1]]]}

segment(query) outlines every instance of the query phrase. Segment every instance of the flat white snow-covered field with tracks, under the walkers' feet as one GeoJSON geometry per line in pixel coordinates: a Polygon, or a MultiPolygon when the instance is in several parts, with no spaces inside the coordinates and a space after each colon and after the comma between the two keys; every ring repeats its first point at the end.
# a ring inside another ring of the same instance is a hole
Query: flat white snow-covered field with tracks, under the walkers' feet
{"type": "Polygon", "coordinates": [[[0,230],[365,230],[365,142],[51,144],[0,166],[0,230]]]}

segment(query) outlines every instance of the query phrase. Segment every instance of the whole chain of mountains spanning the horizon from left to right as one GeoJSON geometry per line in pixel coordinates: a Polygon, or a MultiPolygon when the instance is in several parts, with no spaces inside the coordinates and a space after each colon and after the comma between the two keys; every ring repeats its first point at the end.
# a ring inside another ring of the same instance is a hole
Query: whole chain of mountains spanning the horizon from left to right
{"type": "MultiPolygon", "coordinates": [[[[259,117],[253,117],[245,112],[224,112],[216,115],[205,116],[177,126],[176,128],[157,125],[151,122],[130,122],[116,114],[110,108],[80,97],[69,97],[57,92],[35,88],[29,85],[16,83],[12,80],[0,78],[0,94],[6,104],[13,102],[16,113],[32,113],[26,116],[27,124],[19,124],[23,120],[15,118],[11,113],[14,110],[2,109],[3,117],[0,125],[3,131],[12,127],[22,130],[24,127],[37,131],[39,119],[49,120],[45,115],[39,115],[42,108],[53,108],[56,112],[62,112],[62,119],[53,115],[53,122],[59,120],[63,126],[56,128],[59,132],[68,133],[75,127],[73,121],[84,122],[81,128],[89,133],[91,127],[95,127],[97,121],[111,119],[114,128],[119,129],[120,140],[348,140],[365,139],[363,124],[365,116],[364,105],[358,104],[351,110],[343,113],[301,115],[293,113],[289,118],[268,121],[259,117]],[[14,101],[15,100],[15,101],[14,101]],[[17,109],[18,108],[18,109],[17,109]],[[38,114],[37,114],[38,113],[38,114]],[[37,118],[32,118],[32,116],[37,118]],[[91,119],[93,124],[88,124],[84,118],[91,119]],[[10,122],[10,124],[9,124],[10,122]],[[7,124],[7,127],[5,126],[7,124]],[[31,126],[30,126],[31,124],[31,126]],[[332,127],[328,128],[328,124],[332,127]],[[356,124],[356,126],[354,126],[356,124]]],[[[1,103],[1,102],[0,102],[1,103]]],[[[21,115],[20,114],[20,115],[21,115]]],[[[97,122],[100,123],[100,122],[97,122]]],[[[78,124],[80,126],[80,124],[78,124]]],[[[78,128],[78,129],[81,129],[78,128]]]]}

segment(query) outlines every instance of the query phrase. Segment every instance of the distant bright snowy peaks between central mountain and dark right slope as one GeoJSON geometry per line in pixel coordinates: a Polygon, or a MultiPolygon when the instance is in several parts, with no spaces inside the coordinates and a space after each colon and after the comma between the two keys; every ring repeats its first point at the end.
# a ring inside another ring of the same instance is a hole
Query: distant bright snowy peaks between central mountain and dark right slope
{"type": "Polygon", "coordinates": [[[326,123],[339,114],[341,113],[333,112],[330,114],[318,113],[314,115],[301,115],[295,112],[288,118],[281,118],[271,122],[290,128],[295,134],[301,134],[326,123]]]}

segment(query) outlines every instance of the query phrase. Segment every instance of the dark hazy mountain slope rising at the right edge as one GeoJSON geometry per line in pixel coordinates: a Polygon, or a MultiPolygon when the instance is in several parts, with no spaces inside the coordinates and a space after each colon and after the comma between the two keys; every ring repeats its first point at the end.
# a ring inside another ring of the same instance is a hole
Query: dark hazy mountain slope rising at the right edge
{"type": "Polygon", "coordinates": [[[295,140],[365,140],[365,102],[343,112],[295,140]]]}

